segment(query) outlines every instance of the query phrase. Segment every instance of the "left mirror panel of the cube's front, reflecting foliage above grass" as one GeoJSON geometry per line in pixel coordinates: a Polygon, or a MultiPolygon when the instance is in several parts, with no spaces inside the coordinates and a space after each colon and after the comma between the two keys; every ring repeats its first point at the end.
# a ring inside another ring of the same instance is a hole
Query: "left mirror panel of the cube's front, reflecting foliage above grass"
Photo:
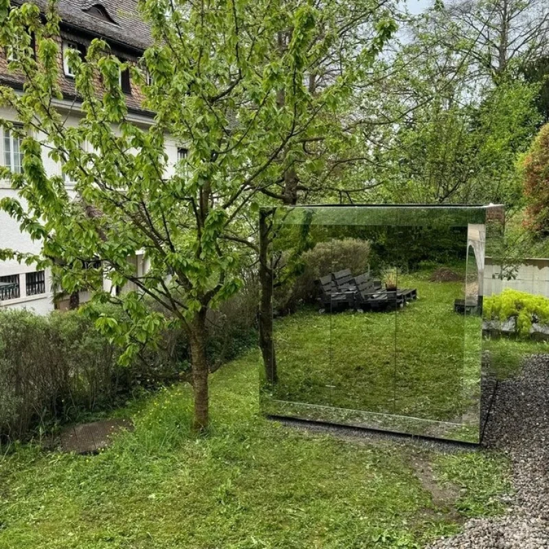
{"type": "Polygon", "coordinates": [[[274,351],[277,382],[272,397],[318,406],[333,406],[331,381],[331,316],[329,285],[320,279],[329,274],[332,246],[327,242],[314,266],[306,264],[312,239],[329,232],[312,224],[314,214],[303,211],[301,224],[281,223],[272,242],[274,351]]]}

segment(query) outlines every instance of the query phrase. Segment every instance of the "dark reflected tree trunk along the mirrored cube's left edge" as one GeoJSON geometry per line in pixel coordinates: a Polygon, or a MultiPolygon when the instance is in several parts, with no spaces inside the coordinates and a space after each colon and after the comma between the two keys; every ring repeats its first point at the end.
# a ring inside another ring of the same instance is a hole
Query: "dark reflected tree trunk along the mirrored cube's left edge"
{"type": "Polygon", "coordinates": [[[277,382],[277,358],[272,341],[272,268],[268,258],[272,213],[261,212],[259,222],[259,347],[268,382],[277,382]]]}

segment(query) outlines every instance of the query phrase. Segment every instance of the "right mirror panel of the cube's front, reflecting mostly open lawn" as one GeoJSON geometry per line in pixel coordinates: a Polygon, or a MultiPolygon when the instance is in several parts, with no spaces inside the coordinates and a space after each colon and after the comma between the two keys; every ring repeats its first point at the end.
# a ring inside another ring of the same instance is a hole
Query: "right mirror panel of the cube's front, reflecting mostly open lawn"
{"type": "Polygon", "coordinates": [[[396,413],[431,420],[423,434],[443,437],[463,408],[467,226],[413,226],[406,242],[421,250],[402,277],[419,301],[397,316],[396,413]]]}

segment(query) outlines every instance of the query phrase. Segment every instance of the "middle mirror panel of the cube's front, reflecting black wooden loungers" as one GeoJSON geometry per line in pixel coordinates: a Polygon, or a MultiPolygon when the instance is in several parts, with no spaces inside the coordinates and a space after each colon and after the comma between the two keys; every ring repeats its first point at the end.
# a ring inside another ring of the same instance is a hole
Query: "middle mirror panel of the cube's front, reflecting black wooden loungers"
{"type": "MultiPolygon", "coordinates": [[[[331,234],[338,301],[331,315],[331,370],[337,408],[373,414],[395,410],[396,311],[382,291],[383,268],[372,248],[373,240],[392,242],[394,231],[393,226],[349,224],[331,234]]],[[[356,423],[375,426],[368,417],[356,423]]]]}

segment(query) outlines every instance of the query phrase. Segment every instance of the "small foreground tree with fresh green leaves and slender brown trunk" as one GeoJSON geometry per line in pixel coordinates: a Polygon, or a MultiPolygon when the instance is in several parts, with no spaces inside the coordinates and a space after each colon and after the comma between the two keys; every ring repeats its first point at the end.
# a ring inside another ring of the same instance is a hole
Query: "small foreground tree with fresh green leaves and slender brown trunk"
{"type": "MultiPolygon", "coordinates": [[[[239,290],[243,258],[250,250],[257,257],[250,216],[261,202],[294,203],[299,170],[344,139],[338,108],[395,23],[377,1],[365,0],[141,0],[139,6],[154,37],[143,55],[152,82],[93,40],[84,60],[69,54],[82,119],[68,127],[56,106],[62,94],[55,3],[43,20],[32,3],[14,8],[0,0],[0,46],[14,47],[10,66],[26,77],[22,94],[0,88],[0,104],[14,108],[25,130],[23,174],[0,173],[20,200],[0,206],[43,242],[40,257],[2,250],[0,259],[49,264],[67,292],[93,288],[91,315],[94,303],[119,303],[127,321],[101,314],[96,324],[126,346],[123,361],[161,329],[185,329],[194,427],[202,430],[209,422],[206,316],[239,290]],[[366,27],[367,36],[351,40],[366,27]],[[143,89],[143,106],[155,113],[148,128],[128,119],[119,84],[125,69],[143,89]],[[189,145],[172,175],[166,135],[189,145]],[[320,143],[323,150],[307,149],[320,143]],[[46,173],[43,149],[62,163],[78,200],[60,177],[46,173]],[[150,265],[141,276],[128,261],[138,250],[150,265]],[[103,279],[115,288],[131,282],[139,291],[104,292],[103,279]],[[151,312],[146,299],[161,312],[151,312]]],[[[10,121],[0,124],[19,131],[10,121]]]]}

